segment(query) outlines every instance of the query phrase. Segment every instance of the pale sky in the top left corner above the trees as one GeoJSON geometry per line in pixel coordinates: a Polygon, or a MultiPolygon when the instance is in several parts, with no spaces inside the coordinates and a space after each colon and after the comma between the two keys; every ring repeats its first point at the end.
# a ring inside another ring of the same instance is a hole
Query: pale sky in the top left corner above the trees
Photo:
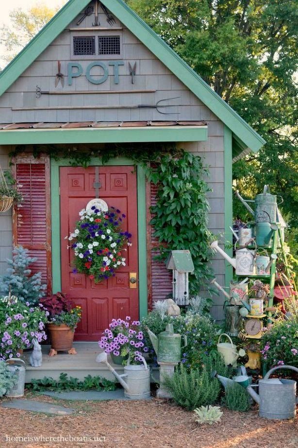
{"type": "MultiPolygon", "coordinates": [[[[21,8],[26,11],[33,5],[47,2],[48,4],[50,4],[50,6],[54,7],[66,3],[66,0],[0,0],[0,27],[2,27],[3,25],[10,25],[9,13],[12,10],[21,8]]],[[[5,49],[2,45],[0,45],[0,59],[4,52],[5,49]]],[[[3,67],[2,61],[0,61],[0,66],[3,67]]]]}

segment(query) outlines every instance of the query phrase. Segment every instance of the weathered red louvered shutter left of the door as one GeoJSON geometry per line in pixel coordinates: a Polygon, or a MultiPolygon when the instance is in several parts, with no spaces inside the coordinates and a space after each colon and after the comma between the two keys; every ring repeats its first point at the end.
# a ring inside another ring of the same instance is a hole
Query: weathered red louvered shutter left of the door
{"type": "Polygon", "coordinates": [[[13,171],[17,189],[24,197],[13,212],[14,245],[23,246],[37,258],[30,269],[42,273],[42,281],[51,293],[50,158],[19,154],[13,171]]]}

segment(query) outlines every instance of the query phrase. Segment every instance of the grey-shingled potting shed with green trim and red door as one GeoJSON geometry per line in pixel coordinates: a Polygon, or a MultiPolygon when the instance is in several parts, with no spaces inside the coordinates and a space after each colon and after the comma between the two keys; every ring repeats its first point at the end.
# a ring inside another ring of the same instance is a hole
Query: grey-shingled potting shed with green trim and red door
{"type": "MultiPolygon", "coordinates": [[[[0,164],[8,168],[19,149],[12,168],[25,199],[0,216],[0,270],[13,244],[29,249],[49,292],[82,307],[79,341],[97,341],[113,317],[138,319],[172,291],[172,272],[154,258],[156,186],[141,166],[134,170],[129,145],[172,143],[201,156],[209,228],[232,241],[232,163],[265,143],[122,0],[101,0],[96,10],[94,1],[69,0],[0,73],[0,164]],[[85,168],[55,152],[109,144],[125,145],[127,155],[105,165],[94,157],[85,168]],[[132,233],[127,265],[99,284],[73,273],[65,241],[95,197],[119,208],[132,233]]],[[[216,256],[212,265],[228,285],[232,267],[216,256]]],[[[216,297],[216,319],[222,304],[216,297]]]]}

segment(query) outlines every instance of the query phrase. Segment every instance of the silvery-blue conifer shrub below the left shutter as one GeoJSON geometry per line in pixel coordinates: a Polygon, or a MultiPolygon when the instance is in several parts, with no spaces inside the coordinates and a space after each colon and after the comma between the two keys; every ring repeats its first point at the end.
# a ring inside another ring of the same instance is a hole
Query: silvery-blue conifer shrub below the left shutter
{"type": "Polygon", "coordinates": [[[32,274],[29,266],[37,260],[31,257],[27,249],[22,246],[15,247],[13,258],[7,262],[11,266],[7,269],[8,274],[0,276],[0,294],[16,295],[19,301],[29,302],[35,305],[44,296],[47,285],[42,284],[41,273],[32,274]]]}

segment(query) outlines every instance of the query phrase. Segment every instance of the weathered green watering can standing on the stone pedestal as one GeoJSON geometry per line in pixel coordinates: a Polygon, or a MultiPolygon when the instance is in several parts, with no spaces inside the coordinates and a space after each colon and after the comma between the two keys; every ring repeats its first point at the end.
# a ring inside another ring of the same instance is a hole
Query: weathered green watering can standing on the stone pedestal
{"type": "MultiPolygon", "coordinates": [[[[150,341],[157,355],[157,362],[166,364],[178,364],[181,361],[181,334],[174,333],[173,324],[167,324],[166,331],[162,331],[156,336],[146,327],[150,341]]],[[[184,345],[187,345],[187,338],[184,335],[184,345]]]]}

